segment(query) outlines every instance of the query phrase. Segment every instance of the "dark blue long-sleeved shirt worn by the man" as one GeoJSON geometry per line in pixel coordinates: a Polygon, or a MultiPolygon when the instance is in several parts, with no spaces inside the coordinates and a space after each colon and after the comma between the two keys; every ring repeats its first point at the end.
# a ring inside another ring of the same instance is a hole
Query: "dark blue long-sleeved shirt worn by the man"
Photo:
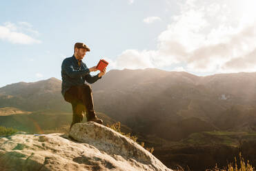
{"type": "Polygon", "coordinates": [[[87,81],[88,83],[95,83],[101,77],[90,75],[90,70],[87,68],[86,63],[81,61],[81,66],[78,65],[78,60],[74,54],[72,57],[68,57],[63,60],[61,64],[61,94],[65,95],[65,92],[72,86],[82,85],[87,81]]]}

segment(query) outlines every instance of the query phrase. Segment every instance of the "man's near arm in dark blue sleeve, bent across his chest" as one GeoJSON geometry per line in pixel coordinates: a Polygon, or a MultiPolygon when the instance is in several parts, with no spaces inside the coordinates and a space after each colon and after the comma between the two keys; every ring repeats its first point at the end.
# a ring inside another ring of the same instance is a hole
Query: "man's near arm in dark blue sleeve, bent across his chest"
{"type": "Polygon", "coordinates": [[[84,70],[75,70],[72,66],[72,63],[70,61],[66,61],[66,60],[64,60],[62,62],[61,70],[66,72],[66,74],[68,74],[68,76],[73,79],[90,74],[90,70],[88,68],[86,68],[84,70]]]}

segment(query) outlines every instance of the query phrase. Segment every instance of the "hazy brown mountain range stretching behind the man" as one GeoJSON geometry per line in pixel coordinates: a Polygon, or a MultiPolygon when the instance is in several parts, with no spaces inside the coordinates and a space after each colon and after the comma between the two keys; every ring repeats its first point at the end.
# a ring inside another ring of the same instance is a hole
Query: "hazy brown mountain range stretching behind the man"
{"type": "MultiPolygon", "coordinates": [[[[193,132],[256,130],[256,73],[197,77],[187,72],[110,70],[91,84],[95,110],[135,132],[177,141],[193,132]],[[163,130],[168,130],[165,132],[163,130]]],[[[0,108],[70,112],[61,80],[0,88],[0,108]]]]}

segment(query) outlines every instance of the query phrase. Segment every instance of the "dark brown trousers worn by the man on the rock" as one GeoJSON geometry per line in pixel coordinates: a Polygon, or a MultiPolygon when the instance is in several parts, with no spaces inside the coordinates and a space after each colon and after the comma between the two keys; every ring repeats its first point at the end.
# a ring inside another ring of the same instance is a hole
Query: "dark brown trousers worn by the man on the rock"
{"type": "Polygon", "coordinates": [[[84,112],[87,119],[95,117],[92,88],[89,84],[72,86],[65,92],[64,99],[72,105],[73,116],[70,129],[75,123],[83,121],[84,112]]]}

